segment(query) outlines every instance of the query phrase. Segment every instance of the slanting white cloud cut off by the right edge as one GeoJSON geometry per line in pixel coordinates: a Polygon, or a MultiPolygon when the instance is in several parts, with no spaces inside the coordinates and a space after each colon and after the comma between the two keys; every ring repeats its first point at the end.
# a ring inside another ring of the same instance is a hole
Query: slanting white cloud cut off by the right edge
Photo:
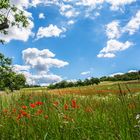
{"type": "Polygon", "coordinates": [[[133,35],[139,29],[140,29],[140,10],[136,13],[134,17],[131,18],[131,20],[123,28],[123,32],[128,32],[130,35],[133,35]]]}

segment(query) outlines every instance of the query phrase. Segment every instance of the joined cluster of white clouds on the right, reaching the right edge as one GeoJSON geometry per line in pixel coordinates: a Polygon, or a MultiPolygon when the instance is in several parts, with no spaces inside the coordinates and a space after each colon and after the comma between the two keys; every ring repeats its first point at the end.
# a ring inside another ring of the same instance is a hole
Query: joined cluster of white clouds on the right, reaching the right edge
{"type": "Polygon", "coordinates": [[[140,11],[137,11],[136,15],[124,27],[120,27],[119,23],[119,21],[112,21],[106,25],[107,46],[100,51],[97,57],[113,58],[116,56],[116,52],[124,51],[134,45],[130,41],[122,43],[117,39],[126,32],[133,35],[140,29],[140,11]]]}

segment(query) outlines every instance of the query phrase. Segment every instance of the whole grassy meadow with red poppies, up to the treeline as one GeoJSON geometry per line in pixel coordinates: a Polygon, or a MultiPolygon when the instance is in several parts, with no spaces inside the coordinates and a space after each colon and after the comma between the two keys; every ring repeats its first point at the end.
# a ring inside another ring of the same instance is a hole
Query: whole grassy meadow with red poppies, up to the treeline
{"type": "Polygon", "coordinates": [[[1,140],[138,140],[140,83],[0,95],[1,140]]]}

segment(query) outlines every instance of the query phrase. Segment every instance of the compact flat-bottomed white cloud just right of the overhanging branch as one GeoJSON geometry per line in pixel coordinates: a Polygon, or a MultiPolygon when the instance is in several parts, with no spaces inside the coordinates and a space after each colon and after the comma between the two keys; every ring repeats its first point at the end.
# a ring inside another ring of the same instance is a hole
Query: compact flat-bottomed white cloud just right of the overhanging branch
{"type": "Polygon", "coordinates": [[[65,32],[65,29],[60,29],[56,25],[50,24],[48,27],[40,27],[37,32],[37,39],[43,37],[59,37],[61,33],[65,32]]]}

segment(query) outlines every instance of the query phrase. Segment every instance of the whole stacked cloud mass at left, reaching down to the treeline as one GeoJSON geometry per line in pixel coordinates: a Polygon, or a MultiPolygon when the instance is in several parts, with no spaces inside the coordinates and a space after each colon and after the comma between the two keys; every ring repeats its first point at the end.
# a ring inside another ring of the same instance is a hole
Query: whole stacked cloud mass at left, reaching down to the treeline
{"type": "Polygon", "coordinates": [[[61,68],[69,63],[54,57],[55,54],[48,49],[28,48],[22,51],[25,65],[14,65],[13,70],[24,74],[28,84],[47,85],[59,82],[62,80],[62,77],[52,74],[50,68],[61,68]]]}

